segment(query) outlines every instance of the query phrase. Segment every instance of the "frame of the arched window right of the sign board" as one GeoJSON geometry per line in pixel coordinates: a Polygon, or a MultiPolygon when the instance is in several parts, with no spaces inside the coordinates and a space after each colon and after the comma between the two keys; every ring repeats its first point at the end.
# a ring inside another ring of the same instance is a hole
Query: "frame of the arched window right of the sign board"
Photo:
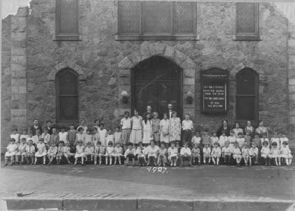
{"type": "Polygon", "coordinates": [[[252,68],[249,67],[245,67],[243,69],[241,69],[240,71],[238,71],[236,73],[236,122],[246,122],[247,120],[250,120],[253,125],[257,125],[258,121],[259,121],[259,73],[256,72],[255,70],[253,70],[252,68]],[[244,73],[244,72],[248,72],[248,74],[252,74],[255,80],[255,94],[237,94],[237,89],[238,89],[238,77],[244,73]],[[254,105],[254,120],[250,120],[250,119],[237,119],[237,98],[239,96],[253,96],[254,101],[255,101],[255,105],[254,105]]]}

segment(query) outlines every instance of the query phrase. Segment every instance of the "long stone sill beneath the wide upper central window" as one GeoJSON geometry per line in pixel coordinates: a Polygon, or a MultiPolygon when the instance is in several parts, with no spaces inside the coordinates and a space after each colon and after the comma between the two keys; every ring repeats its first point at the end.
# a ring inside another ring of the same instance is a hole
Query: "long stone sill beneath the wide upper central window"
{"type": "Polygon", "coordinates": [[[177,34],[177,35],[115,35],[115,40],[199,40],[197,34],[177,34]]]}

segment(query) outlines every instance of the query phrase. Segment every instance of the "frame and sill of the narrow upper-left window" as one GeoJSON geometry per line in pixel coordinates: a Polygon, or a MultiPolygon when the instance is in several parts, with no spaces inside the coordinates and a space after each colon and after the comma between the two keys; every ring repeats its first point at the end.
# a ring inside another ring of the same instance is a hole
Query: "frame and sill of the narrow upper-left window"
{"type": "Polygon", "coordinates": [[[77,33],[61,33],[60,30],[60,0],[56,0],[56,34],[54,40],[82,40],[79,30],[79,0],[75,0],[77,3],[77,33]]]}

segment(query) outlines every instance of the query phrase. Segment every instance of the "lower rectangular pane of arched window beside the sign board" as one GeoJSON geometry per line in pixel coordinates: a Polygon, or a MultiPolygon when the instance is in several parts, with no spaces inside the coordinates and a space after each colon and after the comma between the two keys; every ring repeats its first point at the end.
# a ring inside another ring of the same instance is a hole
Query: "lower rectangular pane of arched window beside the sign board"
{"type": "Polygon", "coordinates": [[[236,97],[236,119],[255,120],[255,97],[236,97]]]}

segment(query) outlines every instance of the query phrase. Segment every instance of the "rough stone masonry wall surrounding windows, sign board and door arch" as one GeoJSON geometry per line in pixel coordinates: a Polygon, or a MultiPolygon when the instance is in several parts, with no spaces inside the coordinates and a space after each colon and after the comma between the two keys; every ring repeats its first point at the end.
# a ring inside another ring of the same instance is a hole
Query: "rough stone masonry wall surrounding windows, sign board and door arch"
{"type": "MultiPolygon", "coordinates": [[[[117,1],[80,0],[81,41],[54,41],[55,0],[32,0],[27,16],[27,123],[55,121],[54,74],[69,66],[79,73],[79,118],[102,118],[114,127],[121,115],[118,64],[145,43],[164,44],[195,63],[193,121],[216,128],[222,118],[233,122],[235,75],[243,67],[259,73],[259,115],[269,129],[287,129],[287,20],[269,3],[260,3],[262,41],[235,41],[235,3],[198,2],[198,41],[116,41],[117,1]],[[200,112],[201,70],[220,67],[230,71],[230,111],[226,115],[200,112]]],[[[166,47],[167,48],[167,47],[166,47]]],[[[156,52],[150,52],[154,55],[156,52]]],[[[3,73],[2,73],[3,74],[3,73]]],[[[187,75],[191,77],[190,74],[187,75]]],[[[9,85],[8,85],[9,86],[9,85]]],[[[189,91],[189,90],[186,90],[189,91]]],[[[2,105],[9,107],[8,102],[2,105]]],[[[9,116],[9,114],[7,115],[9,116]]],[[[42,122],[44,123],[44,122],[42,122]]],[[[5,128],[4,128],[5,129],[5,128]]],[[[8,128],[7,128],[8,129],[8,128]]],[[[6,130],[6,129],[5,129],[6,130]]],[[[9,131],[10,132],[10,131],[9,131]]],[[[5,132],[8,134],[8,132],[5,132]]]]}

